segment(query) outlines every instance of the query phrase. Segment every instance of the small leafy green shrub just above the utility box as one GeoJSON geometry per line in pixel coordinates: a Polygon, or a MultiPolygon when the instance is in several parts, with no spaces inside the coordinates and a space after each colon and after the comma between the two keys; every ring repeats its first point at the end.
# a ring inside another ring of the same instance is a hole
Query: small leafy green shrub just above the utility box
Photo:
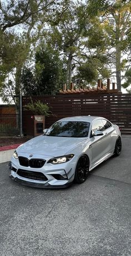
{"type": "Polygon", "coordinates": [[[24,106],[25,110],[32,111],[34,114],[42,115],[42,116],[50,116],[52,114],[51,111],[49,111],[49,107],[47,104],[43,104],[40,101],[33,102],[31,99],[31,103],[28,103],[24,106]]]}

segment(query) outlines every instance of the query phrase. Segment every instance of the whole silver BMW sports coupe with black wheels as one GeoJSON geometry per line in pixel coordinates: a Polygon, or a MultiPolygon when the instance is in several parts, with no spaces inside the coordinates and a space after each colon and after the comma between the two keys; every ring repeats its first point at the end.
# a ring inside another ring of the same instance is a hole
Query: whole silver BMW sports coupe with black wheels
{"type": "Polygon", "coordinates": [[[85,182],[90,170],[121,150],[119,127],[107,119],[63,118],[14,151],[9,176],[31,187],[67,187],[85,182]]]}

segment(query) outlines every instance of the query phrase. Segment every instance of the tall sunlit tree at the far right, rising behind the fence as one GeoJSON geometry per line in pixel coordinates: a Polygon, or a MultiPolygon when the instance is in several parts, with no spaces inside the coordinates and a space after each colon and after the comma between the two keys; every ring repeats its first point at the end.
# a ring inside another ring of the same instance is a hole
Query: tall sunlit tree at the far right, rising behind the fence
{"type": "Polygon", "coordinates": [[[114,69],[117,79],[117,88],[121,91],[121,72],[126,70],[128,58],[128,37],[131,26],[131,3],[130,1],[88,1],[88,8],[99,18],[99,23],[103,27],[105,34],[105,45],[107,45],[106,55],[108,63],[114,69]],[[102,3],[103,2],[103,3],[102,3]]]}

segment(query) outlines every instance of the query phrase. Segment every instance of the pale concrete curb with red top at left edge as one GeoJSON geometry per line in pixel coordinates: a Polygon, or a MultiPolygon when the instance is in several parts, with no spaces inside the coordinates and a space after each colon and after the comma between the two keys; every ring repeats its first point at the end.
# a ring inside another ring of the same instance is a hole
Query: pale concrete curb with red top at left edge
{"type": "Polygon", "coordinates": [[[13,155],[14,149],[18,148],[19,145],[21,144],[13,144],[13,145],[0,147],[0,163],[10,161],[13,155]]]}

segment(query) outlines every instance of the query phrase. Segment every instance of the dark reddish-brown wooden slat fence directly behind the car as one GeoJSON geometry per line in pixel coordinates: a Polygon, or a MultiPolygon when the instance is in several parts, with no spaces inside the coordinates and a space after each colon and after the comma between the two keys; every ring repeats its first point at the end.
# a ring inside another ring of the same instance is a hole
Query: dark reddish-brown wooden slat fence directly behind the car
{"type": "MultiPolygon", "coordinates": [[[[54,116],[46,117],[46,128],[58,119],[71,116],[100,116],[117,124],[123,135],[131,135],[131,94],[63,94],[37,96],[33,101],[47,103],[54,116]]],[[[30,101],[23,97],[23,106],[30,101]]],[[[23,110],[23,130],[31,112],[23,110]]]]}

